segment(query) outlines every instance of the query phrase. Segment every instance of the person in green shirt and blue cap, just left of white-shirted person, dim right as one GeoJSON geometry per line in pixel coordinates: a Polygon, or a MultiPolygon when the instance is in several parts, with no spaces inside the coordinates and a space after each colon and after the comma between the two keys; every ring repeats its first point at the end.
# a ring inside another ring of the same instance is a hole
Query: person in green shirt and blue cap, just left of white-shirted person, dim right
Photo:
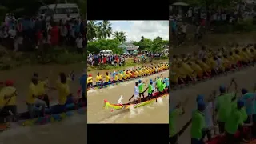
{"type": "Polygon", "coordinates": [[[191,144],[203,144],[202,134],[205,131],[205,116],[203,111],[206,108],[206,104],[203,101],[198,102],[198,110],[195,110],[192,114],[191,124],[191,144]]]}

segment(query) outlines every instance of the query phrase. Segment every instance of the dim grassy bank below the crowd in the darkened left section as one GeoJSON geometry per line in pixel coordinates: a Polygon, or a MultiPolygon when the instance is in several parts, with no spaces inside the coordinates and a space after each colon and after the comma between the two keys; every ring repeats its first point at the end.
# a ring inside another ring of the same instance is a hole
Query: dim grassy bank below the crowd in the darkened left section
{"type": "Polygon", "coordinates": [[[45,54],[40,51],[13,52],[0,46],[0,70],[10,70],[26,65],[50,65],[86,63],[86,56],[77,54],[71,48],[51,48],[45,54]]]}

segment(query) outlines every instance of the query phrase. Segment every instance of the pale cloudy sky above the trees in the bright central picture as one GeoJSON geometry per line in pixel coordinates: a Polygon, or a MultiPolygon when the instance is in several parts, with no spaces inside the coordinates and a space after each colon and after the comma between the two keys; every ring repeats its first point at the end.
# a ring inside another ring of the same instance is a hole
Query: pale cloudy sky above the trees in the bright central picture
{"type": "Polygon", "coordinates": [[[154,39],[158,36],[169,40],[169,21],[110,21],[114,31],[126,33],[127,42],[144,38],[154,39]]]}

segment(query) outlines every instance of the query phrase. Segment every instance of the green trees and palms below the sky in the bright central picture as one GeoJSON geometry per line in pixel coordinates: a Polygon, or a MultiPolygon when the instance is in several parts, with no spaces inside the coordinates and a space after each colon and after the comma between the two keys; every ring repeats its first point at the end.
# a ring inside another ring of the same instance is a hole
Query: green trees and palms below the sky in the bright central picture
{"type": "MultiPolygon", "coordinates": [[[[118,46],[127,41],[126,33],[123,31],[113,32],[109,21],[88,21],[87,38],[89,41],[87,50],[93,54],[98,54],[100,50],[112,50],[115,54],[122,54],[122,48],[118,46]]],[[[131,43],[139,46],[138,50],[160,52],[164,46],[169,44],[169,41],[163,40],[161,37],[151,40],[142,36],[140,41],[131,43]]]]}

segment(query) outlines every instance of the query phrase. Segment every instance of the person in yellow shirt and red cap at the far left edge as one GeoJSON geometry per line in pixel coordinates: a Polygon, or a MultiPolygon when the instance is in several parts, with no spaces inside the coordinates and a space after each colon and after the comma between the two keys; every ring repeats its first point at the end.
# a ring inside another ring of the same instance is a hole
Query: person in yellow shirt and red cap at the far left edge
{"type": "Polygon", "coordinates": [[[16,116],[17,90],[14,87],[14,82],[6,80],[5,87],[0,90],[0,122],[2,118],[6,118],[9,115],[9,111],[16,116]]]}

